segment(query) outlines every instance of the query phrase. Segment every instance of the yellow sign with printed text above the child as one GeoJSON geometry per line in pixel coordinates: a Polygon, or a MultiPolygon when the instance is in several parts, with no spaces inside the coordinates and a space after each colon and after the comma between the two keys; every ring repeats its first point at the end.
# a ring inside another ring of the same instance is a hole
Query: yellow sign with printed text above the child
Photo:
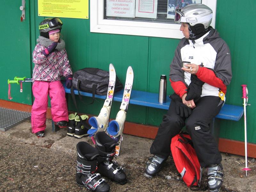
{"type": "Polygon", "coordinates": [[[38,16],[89,19],[89,0],[38,0],[38,16]]]}

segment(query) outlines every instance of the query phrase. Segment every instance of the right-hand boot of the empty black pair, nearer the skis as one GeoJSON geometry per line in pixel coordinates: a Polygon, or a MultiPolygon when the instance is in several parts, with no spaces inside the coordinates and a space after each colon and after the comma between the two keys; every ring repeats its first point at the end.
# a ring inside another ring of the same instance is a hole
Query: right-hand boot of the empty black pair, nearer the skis
{"type": "Polygon", "coordinates": [[[116,161],[113,160],[118,143],[111,139],[105,132],[96,133],[95,141],[100,154],[100,156],[97,157],[99,163],[98,172],[119,185],[127,183],[123,168],[118,166],[116,161]]]}

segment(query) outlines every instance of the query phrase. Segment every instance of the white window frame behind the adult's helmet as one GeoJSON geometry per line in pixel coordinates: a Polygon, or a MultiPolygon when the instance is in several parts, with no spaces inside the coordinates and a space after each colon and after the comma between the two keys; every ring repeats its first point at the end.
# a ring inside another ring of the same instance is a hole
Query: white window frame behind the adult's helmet
{"type": "MultiPolygon", "coordinates": [[[[202,0],[202,4],[212,9],[211,26],[215,28],[216,4],[217,0],[202,0]]],[[[157,23],[144,21],[127,21],[103,19],[104,16],[103,0],[90,1],[90,31],[96,33],[183,38],[180,32],[180,24],[175,23],[157,23]]]]}

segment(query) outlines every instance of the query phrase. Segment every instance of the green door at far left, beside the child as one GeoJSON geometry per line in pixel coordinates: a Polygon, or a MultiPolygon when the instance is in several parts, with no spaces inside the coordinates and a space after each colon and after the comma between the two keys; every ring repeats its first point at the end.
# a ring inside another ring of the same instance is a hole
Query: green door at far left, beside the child
{"type": "MultiPolygon", "coordinates": [[[[7,80],[15,76],[30,77],[30,29],[29,22],[20,22],[21,1],[2,0],[0,12],[2,15],[0,30],[0,99],[8,100],[7,80]]],[[[29,20],[29,11],[26,14],[29,20]]],[[[12,101],[31,105],[31,83],[11,84],[12,101]]]]}

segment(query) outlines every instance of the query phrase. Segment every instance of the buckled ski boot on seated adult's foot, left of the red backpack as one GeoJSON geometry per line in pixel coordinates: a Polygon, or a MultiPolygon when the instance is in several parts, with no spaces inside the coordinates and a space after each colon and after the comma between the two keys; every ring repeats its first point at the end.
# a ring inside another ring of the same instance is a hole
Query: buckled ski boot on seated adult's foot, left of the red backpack
{"type": "MultiPolygon", "coordinates": [[[[167,158],[165,158],[164,161],[166,161],[167,158]]],[[[151,179],[153,176],[155,176],[160,171],[164,161],[161,162],[160,159],[158,159],[157,156],[155,156],[155,155],[150,156],[146,163],[146,169],[144,172],[144,176],[151,179]]]]}

